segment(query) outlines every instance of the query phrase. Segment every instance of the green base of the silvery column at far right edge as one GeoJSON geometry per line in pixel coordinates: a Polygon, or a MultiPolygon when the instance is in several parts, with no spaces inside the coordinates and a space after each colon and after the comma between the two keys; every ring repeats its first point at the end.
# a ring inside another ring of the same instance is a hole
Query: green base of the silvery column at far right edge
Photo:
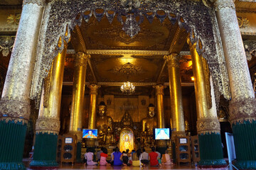
{"type": "Polygon", "coordinates": [[[256,169],[256,121],[244,121],[232,126],[238,169],[256,169]]]}

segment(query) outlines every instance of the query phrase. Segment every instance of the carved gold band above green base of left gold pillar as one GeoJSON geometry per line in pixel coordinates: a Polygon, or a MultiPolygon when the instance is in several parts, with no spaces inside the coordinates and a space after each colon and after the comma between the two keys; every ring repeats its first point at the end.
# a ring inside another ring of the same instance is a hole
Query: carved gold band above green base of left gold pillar
{"type": "Polygon", "coordinates": [[[53,133],[58,135],[60,131],[60,120],[55,120],[53,118],[38,118],[36,120],[36,132],[42,133],[53,133]]]}

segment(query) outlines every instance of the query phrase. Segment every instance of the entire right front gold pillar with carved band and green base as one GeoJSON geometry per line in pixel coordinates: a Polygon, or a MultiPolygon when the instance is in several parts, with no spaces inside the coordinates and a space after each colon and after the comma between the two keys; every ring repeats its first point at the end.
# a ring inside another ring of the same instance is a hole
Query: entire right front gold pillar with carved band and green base
{"type": "Polygon", "coordinates": [[[220,123],[215,108],[213,82],[210,78],[208,64],[196,51],[196,43],[188,45],[191,50],[193,77],[195,79],[197,131],[200,147],[199,166],[226,166],[220,137],[220,123]]]}

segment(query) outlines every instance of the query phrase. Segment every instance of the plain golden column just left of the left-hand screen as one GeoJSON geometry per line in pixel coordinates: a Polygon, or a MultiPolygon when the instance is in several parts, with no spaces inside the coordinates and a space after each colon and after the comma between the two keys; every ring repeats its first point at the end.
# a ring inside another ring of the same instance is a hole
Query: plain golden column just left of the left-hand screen
{"type": "Polygon", "coordinates": [[[85,75],[87,60],[90,55],[78,52],[75,55],[75,71],[73,80],[73,95],[70,114],[70,133],[78,136],[78,141],[82,141],[82,111],[85,98],[85,75]]]}

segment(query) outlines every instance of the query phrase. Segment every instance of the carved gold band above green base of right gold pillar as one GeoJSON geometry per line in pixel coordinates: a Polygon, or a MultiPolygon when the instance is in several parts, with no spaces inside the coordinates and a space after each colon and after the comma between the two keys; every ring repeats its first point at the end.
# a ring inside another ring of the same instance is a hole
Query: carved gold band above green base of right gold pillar
{"type": "Polygon", "coordinates": [[[220,133],[220,122],[217,118],[202,118],[197,120],[196,128],[200,135],[220,133]]]}

